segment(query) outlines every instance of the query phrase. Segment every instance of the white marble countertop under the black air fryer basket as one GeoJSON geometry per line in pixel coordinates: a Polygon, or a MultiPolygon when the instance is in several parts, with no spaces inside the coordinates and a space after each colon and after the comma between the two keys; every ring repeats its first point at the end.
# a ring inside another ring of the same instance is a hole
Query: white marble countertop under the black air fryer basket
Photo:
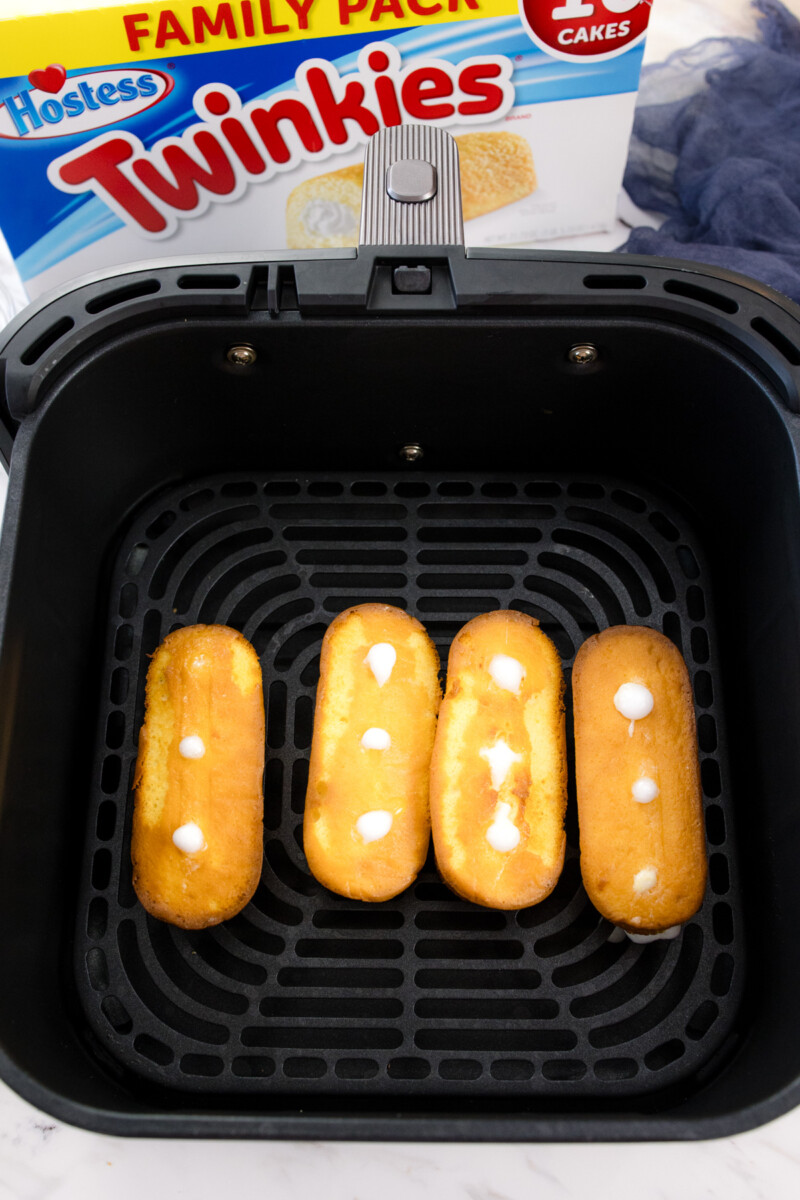
{"type": "MultiPolygon", "coordinates": [[[[95,4],[98,0],[94,0],[95,4]]],[[[784,0],[800,14],[800,0],[784,0]]],[[[82,7],[80,0],[0,0],[0,16],[82,7]]],[[[645,61],[700,37],[748,36],[746,0],[656,0],[645,61]]],[[[570,239],[610,250],[625,229],[570,239]]],[[[567,242],[565,242],[567,245],[567,242]]],[[[0,283],[19,299],[0,247],[0,283]]],[[[0,289],[1,296],[1,289],[0,289]]],[[[5,319],[0,313],[0,320],[5,319]]],[[[5,476],[0,472],[0,514],[5,476]]],[[[735,1138],[622,1145],[428,1145],[143,1140],[86,1133],[0,1084],[0,1200],[140,1200],[143,1195],[266,1195],[300,1200],[783,1200],[800,1194],[800,1109],[735,1138]]]]}

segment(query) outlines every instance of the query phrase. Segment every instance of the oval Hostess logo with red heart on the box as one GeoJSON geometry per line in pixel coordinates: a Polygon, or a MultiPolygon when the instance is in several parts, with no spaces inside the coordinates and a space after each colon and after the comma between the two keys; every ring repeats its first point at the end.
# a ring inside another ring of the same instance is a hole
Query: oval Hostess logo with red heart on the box
{"type": "Polygon", "coordinates": [[[0,98],[0,137],[31,142],[86,133],[127,120],[173,90],[163,71],[122,68],[70,76],[52,64],[31,71],[30,88],[0,98]]]}

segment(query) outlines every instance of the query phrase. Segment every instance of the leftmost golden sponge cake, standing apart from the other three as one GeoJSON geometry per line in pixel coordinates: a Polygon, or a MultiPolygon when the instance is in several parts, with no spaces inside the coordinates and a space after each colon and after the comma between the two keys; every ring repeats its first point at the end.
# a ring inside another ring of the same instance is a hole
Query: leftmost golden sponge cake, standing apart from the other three
{"type": "Polygon", "coordinates": [[[190,625],[152,656],[139,733],[133,887],[154,917],[205,929],[261,874],[264,695],[258,655],[227,625],[190,625]]]}

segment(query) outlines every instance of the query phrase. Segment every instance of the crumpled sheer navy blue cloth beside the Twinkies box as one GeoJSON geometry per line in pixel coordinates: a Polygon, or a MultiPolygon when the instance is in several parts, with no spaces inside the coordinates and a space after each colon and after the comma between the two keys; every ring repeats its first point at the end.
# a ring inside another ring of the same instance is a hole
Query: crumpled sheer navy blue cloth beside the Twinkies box
{"type": "Polygon", "coordinates": [[[712,38],[645,67],[625,170],[661,229],[622,250],[741,271],[800,301],[800,22],[756,0],[762,41],[712,38]]]}

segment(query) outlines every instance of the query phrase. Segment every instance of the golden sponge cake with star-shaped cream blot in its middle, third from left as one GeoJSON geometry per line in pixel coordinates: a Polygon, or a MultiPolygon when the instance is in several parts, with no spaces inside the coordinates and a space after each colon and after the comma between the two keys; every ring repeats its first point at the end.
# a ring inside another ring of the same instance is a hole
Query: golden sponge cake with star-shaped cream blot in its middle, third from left
{"type": "Polygon", "coordinates": [[[543,900],[564,865],[566,746],[558,653],[522,612],[470,620],[450,650],[431,764],[437,864],[491,908],[543,900]]]}

